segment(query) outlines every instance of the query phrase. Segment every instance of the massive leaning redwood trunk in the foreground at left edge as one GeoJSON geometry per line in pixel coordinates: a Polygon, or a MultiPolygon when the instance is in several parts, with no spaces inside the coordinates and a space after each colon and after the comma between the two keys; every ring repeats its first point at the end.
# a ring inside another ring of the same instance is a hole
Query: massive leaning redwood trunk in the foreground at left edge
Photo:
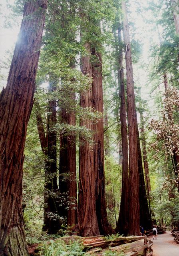
{"type": "Polygon", "coordinates": [[[7,86],[0,95],[0,255],[28,255],[22,217],[22,169],[46,6],[46,0],[24,5],[7,86]]]}

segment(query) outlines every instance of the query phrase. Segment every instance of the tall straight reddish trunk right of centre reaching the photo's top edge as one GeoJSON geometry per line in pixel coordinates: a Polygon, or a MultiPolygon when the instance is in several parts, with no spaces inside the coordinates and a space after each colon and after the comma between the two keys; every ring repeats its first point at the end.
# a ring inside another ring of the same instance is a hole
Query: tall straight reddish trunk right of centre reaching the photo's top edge
{"type": "Polygon", "coordinates": [[[135,95],[133,84],[133,68],[129,26],[125,1],[122,1],[123,34],[125,43],[125,62],[127,74],[127,114],[129,132],[129,234],[140,234],[139,231],[139,176],[137,162],[137,126],[135,111],[135,95]]]}

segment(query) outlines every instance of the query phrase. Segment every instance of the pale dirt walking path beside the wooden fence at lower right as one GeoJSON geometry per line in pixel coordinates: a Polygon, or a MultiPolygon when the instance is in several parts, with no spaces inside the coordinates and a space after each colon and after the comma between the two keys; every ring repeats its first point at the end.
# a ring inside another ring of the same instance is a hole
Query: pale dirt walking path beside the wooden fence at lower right
{"type": "Polygon", "coordinates": [[[173,240],[173,236],[170,231],[166,231],[165,234],[157,235],[157,240],[153,241],[153,256],[179,256],[179,244],[176,244],[173,240]]]}

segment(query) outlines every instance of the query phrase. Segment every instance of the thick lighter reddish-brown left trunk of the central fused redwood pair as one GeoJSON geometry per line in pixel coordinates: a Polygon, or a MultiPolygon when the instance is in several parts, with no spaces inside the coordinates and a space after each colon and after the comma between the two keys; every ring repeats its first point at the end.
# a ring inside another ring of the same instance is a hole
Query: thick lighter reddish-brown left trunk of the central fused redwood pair
{"type": "MultiPolygon", "coordinates": [[[[85,44],[88,56],[82,57],[82,72],[84,75],[92,76],[91,48],[90,44],[85,44]]],[[[92,89],[80,96],[80,106],[92,108],[92,89]]],[[[85,126],[93,130],[91,120],[80,120],[80,126],[85,126]]],[[[79,202],[78,221],[81,236],[99,235],[95,209],[95,172],[93,145],[88,140],[80,136],[80,171],[79,171],[79,202]]]]}

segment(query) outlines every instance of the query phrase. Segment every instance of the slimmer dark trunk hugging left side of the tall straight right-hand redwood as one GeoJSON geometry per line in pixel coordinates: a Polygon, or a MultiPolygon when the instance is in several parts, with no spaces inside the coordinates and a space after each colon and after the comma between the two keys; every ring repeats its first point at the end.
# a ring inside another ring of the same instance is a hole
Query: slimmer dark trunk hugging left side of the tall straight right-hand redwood
{"type": "Polygon", "coordinates": [[[119,219],[117,221],[116,231],[120,234],[128,234],[128,210],[129,210],[129,164],[128,164],[128,142],[127,142],[127,118],[125,107],[125,88],[124,88],[124,70],[123,70],[123,53],[121,46],[121,29],[118,29],[119,44],[119,96],[121,100],[120,120],[121,120],[121,142],[122,142],[122,192],[121,204],[119,210],[119,219]]]}

